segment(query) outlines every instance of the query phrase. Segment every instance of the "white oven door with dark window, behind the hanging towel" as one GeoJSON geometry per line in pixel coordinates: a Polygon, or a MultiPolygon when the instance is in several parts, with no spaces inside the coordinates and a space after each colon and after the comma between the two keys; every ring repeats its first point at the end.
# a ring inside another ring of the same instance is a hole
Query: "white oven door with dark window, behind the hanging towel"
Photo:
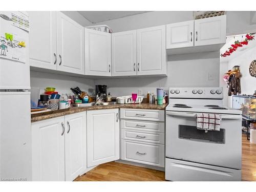
{"type": "Polygon", "coordinates": [[[220,131],[197,129],[197,114],[166,111],[166,158],[241,169],[242,116],[221,114],[220,131]]]}

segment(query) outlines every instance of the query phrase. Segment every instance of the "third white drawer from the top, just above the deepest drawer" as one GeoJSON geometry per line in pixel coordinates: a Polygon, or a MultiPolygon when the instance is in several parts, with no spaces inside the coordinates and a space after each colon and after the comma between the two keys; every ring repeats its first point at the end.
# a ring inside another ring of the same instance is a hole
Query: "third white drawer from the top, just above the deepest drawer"
{"type": "Polygon", "coordinates": [[[141,132],[122,129],[121,134],[122,139],[164,144],[164,133],[141,132]]]}

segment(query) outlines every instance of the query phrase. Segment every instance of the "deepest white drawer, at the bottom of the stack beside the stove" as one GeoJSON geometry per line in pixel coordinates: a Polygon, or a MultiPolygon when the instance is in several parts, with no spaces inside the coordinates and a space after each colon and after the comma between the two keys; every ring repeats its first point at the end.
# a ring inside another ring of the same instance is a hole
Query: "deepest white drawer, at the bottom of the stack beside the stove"
{"type": "Polygon", "coordinates": [[[121,159],[164,167],[164,145],[121,140],[121,159]]]}

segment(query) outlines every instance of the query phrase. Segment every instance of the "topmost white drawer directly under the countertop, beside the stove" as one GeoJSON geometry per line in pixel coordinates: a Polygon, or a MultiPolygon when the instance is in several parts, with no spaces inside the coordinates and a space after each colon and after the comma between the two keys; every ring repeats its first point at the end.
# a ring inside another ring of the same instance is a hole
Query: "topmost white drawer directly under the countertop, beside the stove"
{"type": "Polygon", "coordinates": [[[121,109],[121,119],[164,121],[164,110],[121,109]]]}

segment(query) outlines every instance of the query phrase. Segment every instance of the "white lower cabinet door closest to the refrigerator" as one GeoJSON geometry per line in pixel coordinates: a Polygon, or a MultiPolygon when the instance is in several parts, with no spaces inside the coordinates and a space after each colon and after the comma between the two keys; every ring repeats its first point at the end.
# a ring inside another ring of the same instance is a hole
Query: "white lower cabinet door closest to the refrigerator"
{"type": "Polygon", "coordinates": [[[65,130],[62,123],[64,117],[32,123],[33,181],[65,181],[65,130]]]}

